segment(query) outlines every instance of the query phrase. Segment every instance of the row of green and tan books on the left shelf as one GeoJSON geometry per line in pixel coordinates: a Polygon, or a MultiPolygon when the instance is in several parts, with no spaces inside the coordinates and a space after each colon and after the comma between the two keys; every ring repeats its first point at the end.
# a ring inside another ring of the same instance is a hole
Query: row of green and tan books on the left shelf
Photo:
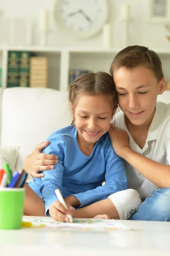
{"type": "Polygon", "coordinates": [[[48,87],[48,59],[9,51],[7,87],[48,87]]]}

